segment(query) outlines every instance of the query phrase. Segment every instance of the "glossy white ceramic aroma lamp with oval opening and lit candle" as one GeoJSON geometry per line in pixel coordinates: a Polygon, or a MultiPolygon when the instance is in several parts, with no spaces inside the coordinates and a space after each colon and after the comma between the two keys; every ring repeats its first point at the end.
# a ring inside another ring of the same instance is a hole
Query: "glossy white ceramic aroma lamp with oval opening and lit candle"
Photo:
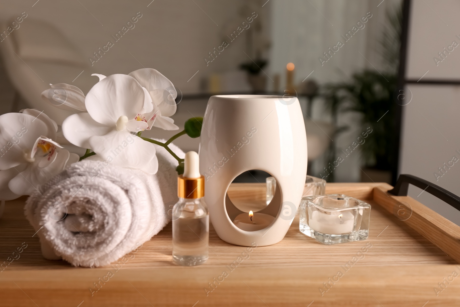
{"type": "Polygon", "coordinates": [[[199,155],[205,200],[219,237],[242,246],[280,242],[299,207],[307,172],[307,141],[299,100],[265,95],[212,96],[201,129],[199,155]],[[251,169],[263,170],[277,182],[270,204],[253,216],[236,208],[227,195],[236,176],[251,169]]]}

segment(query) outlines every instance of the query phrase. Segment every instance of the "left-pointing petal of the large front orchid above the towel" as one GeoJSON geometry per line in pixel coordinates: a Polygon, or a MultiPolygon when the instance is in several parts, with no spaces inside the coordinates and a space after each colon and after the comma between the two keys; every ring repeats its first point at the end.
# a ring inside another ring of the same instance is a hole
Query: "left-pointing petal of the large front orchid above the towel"
{"type": "Polygon", "coordinates": [[[91,148],[88,142],[90,137],[107,134],[114,128],[94,121],[86,112],[73,114],[62,123],[64,137],[70,143],[82,148],[91,148]]]}

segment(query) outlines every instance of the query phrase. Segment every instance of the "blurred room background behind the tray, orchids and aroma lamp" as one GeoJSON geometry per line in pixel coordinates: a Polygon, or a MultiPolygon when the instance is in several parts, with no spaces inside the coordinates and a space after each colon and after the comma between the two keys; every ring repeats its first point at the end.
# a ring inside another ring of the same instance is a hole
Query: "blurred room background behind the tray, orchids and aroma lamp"
{"type": "MultiPolygon", "coordinates": [[[[172,118],[179,127],[203,116],[211,95],[296,95],[309,174],[391,184],[413,174],[460,194],[460,164],[452,162],[460,159],[460,51],[453,43],[460,43],[460,1],[0,3],[2,114],[35,108],[60,124],[70,113],[40,97],[50,83],[86,94],[98,81],[93,73],[154,68],[178,91],[172,118]]],[[[175,143],[197,151],[199,139],[175,143]]],[[[265,176],[254,171],[238,180],[265,176]]],[[[456,210],[422,189],[409,194],[460,223],[456,210]]]]}

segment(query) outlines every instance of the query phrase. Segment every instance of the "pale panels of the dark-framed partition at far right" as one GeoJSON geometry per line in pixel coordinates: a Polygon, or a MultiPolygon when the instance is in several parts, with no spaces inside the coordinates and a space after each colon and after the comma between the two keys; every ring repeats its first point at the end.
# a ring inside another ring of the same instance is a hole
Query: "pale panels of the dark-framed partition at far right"
{"type": "MultiPolygon", "coordinates": [[[[456,16],[460,1],[425,2],[412,1],[407,78],[417,81],[429,70],[423,79],[460,81],[460,47],[438,66],[433,60],[437,52],[453,40],[460,43],[455,37],[460,35],[460,20],[456,16]]],[[[456,152],[460,151],[460,87],[409,84],[405,93],[406,98],[412,97],[412,100],[403,107],[400,173],[413,174],[460,195],[460,162],[446,168],[445,174],[438,169],[453,156],[460,158],[456,152]],[[437,177],[435,172],[443,176],[437,177]]],[[[426,192],[420,194],[421,191],[411,187],[409,195],[460,225],[459,211],[426,192]]]]}

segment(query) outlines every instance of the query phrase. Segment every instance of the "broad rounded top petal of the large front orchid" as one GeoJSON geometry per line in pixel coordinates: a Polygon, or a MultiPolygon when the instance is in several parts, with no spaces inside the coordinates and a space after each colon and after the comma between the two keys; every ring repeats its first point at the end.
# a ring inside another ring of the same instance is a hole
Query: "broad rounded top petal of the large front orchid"
{"type": "Polygon", "coordinates": [[[85,105],[92,119],[111,126],[120,116],[134,118],[142,110],[144,90],[128,75],[109,75],[92,87],[85,105]]]}

